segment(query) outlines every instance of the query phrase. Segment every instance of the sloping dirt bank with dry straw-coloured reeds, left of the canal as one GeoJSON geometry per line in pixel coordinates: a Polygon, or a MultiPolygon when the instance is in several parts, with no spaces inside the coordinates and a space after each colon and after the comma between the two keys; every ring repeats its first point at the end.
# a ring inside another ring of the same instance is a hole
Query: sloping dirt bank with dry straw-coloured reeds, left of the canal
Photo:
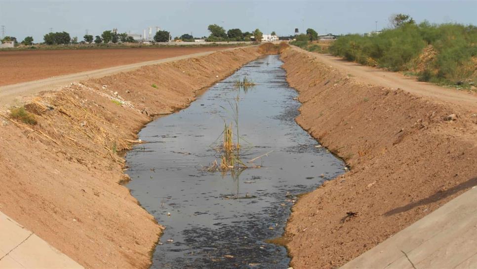
{"type": "Polygon", "coordinates": [[[259,55],[256,47],[45,92],[38,124],[0,118],[0,210],[87,268],[147,268],[162,227],[120,185],[136,133],[259,55]]]}

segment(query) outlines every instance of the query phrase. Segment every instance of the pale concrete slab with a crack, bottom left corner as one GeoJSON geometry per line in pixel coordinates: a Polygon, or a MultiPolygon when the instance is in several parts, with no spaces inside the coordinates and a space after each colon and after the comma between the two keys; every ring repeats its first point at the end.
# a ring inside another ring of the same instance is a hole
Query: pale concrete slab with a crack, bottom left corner
{"type": "Polygon", "coordinates": [[[32,231],[0,212],[0,269],[80,269],[32,231]]]}

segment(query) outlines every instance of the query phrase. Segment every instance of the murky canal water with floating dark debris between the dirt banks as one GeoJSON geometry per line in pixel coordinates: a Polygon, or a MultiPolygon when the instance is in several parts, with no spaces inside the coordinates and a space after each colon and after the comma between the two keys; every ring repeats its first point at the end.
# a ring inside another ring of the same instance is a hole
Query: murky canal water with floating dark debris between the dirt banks
{"type": "Polygon", "coordinates": [[[270,55],[243,66],[189,108],[150,123],[139,134],[150,143],[127,153],[127,187],[166,226],[153,268],[288,267],[285,248],[265,240],[282,235],[293,195],[343,173],[344,164],[295,123],[300,104],[281,64],[270,55]],[[244,76],[257,85],[238,92],[234,82],[244,76]],[[202,171],[220,163],[213,143],[224,120],[233,121],[238,94],[242,160],[273,152],[254,162],[262,168],[202,171]]]}

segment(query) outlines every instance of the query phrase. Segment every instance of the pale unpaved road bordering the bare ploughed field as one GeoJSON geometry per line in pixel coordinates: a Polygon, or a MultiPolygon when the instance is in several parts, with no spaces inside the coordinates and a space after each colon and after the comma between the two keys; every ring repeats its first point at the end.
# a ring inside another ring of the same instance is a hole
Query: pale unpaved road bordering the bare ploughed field
{"type": "MultiPolygon", "coordinates": [[[[235,49],[235,48],[232,48],[232,49],[235,49]]],[[[205,51],[205,52],[199,52],[194,54],[170,57],[166,59],[145,61],[145,62],[103,68],[103,69],[96,69],[96,70],[51,77],[51,78],[41,79],[36,81],[29,81],[24,83],[2,86],[0,87],[0,111],[2,108],[10,107],[18,103],[23,103],[26,101],[26,99],[28,99],[28,97],[34,96],[35,94],[43,90],[58,90],[58,89],[61,89],[62,86],[66,86],[70,83],[81,81],[81,80],[86,80],[91,78],[101,78],[101,77],[105,77],[105,76],[120,73],[120,72],[132,71],[147,65],[154,65],[159,63],[177,61],[181,59],[204,56],[212,52],[214,51],[205,51]]]]}

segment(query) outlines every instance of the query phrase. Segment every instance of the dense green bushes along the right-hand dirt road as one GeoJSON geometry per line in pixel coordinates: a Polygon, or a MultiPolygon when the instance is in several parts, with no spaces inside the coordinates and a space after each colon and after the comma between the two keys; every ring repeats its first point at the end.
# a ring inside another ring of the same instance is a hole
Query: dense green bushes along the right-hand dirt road
{"type": "Polygon", "coordinates": [[[382,33],[342,36],[329,51],[360,64],[404,71],[419,81],[476,90],[476,26],[416,24],[403,14],[391,22],[393,28],[382,33]]]}

